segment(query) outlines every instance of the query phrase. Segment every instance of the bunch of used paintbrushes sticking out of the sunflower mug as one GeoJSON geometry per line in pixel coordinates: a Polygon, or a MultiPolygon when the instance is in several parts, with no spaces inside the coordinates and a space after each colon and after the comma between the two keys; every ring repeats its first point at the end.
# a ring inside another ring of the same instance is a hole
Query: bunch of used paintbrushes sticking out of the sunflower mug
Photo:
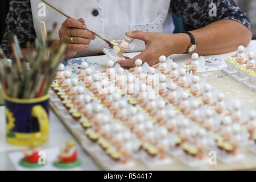
{"type": "MultiPolygon", "coordinates": [[[[53,26],[53,30],[55,29],[56,24],[53,26]]],[[[53,31],[49,32],[44,45],[40,38],[36,38],[35,44],[27,43],[26,57],[30,63],[30,69],[27,69],[21,55],[18,39],[14,34],[9,34],[14,55],[12,63],[7,63],[6,56],[0,49],[0,84],[6,96],[28,99],[47,94],[67,48],[67,44],[64,43],[60,47],[53,46],[54,49],[51,49],[52,45],[49,43],[53,42],[52,35],[53,31]],[[49,54],[50,49],[51,54],[49,54]]]]}

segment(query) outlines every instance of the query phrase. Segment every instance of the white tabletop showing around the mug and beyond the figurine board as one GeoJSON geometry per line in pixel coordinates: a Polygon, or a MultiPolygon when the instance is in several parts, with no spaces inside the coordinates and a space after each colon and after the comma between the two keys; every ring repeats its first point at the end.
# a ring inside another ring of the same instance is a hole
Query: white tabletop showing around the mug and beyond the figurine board
{"type": "MultiPolygon", "coordinates": [[[[256,40],[251,41],[249,46],[246,48],[246,53],[249,51],[256,52],[256,40]]],[[[222,55],[210,55],[204,56],[207,57],[219,57],[225,59],[227,56],[232,55],[235,52],[225,53],[222,55]]],[[[125,56],[133,57],[138,53],[126,53],[125,56]]],[[[172,55],[170,56],[176,63],[181,64],[191,60],[191,55],[172,55]]],[[[106,56],[89,56],[86,59],[90,63],[106,63],[108,57],[106,56]]],[[[69,139],[75,140],[73,136],[68,132],[68,130],[61,123],[59,118],[50,110],[49,111],[49,122],[50,122],[50,131],[49,131],[49,140],[47,143],[44,143],[42,148],[55,148],[64,146],[65,142],[69,139]]],[[[5,107],[0,106],[0,170],[15,170],[13,164],[9,159],[9,152],[20,151],[26,147],[13,146],[6,142],[5,137],[5,107]]],[[[81,160],[81,168],[83,170],[99,170],[100,168],[96,163],[82,150],[79,143],[75,141],[75,146],[79,154],[79,159],[81,160]]]]}

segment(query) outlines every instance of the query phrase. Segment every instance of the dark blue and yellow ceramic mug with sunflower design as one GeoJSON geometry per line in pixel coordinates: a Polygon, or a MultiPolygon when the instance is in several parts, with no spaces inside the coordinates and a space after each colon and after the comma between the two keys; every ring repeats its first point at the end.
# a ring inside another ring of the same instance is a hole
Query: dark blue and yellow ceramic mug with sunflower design
{"type": "Polygon", "coordinates": [[[5,96],[5,107],[7,142],[31,146],[48,140],[49,94],[24,100],[5,96]]]}

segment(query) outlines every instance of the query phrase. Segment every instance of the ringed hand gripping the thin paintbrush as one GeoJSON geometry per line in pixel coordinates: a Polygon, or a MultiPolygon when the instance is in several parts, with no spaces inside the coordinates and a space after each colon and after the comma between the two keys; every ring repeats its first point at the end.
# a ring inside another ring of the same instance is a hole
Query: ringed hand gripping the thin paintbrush
{"type": "Polygon", "coordinates": [[[95,35],[92,32],[86,31],[86,25],[82,18],[79,20],[73,18],[66,19],[60,28],[59,36],[60,43],[68,43],[67,58],[74,57],[78,51],[88,48],[90,40],[95,39],[95,35]]]}

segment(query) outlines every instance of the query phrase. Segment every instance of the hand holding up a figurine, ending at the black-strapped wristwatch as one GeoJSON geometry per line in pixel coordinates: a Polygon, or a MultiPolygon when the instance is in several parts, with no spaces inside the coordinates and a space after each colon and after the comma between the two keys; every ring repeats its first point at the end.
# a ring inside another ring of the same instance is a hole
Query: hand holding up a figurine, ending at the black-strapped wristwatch
{"type": "MultiPolygon", "coordinates": [[[[135,60],[141,59],[152,66],[159,61],[161,55],[169,56],[173,53],[183,53],[190,43],[186,34],[163,34],[153,32],[133,31],[127,32],[127,36],[133,39],[143,40],[146,49],[133,59],[118,61],[123,67],[134,67],[135,60]]],[[[128,57],[129,58],[129,57],[128,57]]]]}

